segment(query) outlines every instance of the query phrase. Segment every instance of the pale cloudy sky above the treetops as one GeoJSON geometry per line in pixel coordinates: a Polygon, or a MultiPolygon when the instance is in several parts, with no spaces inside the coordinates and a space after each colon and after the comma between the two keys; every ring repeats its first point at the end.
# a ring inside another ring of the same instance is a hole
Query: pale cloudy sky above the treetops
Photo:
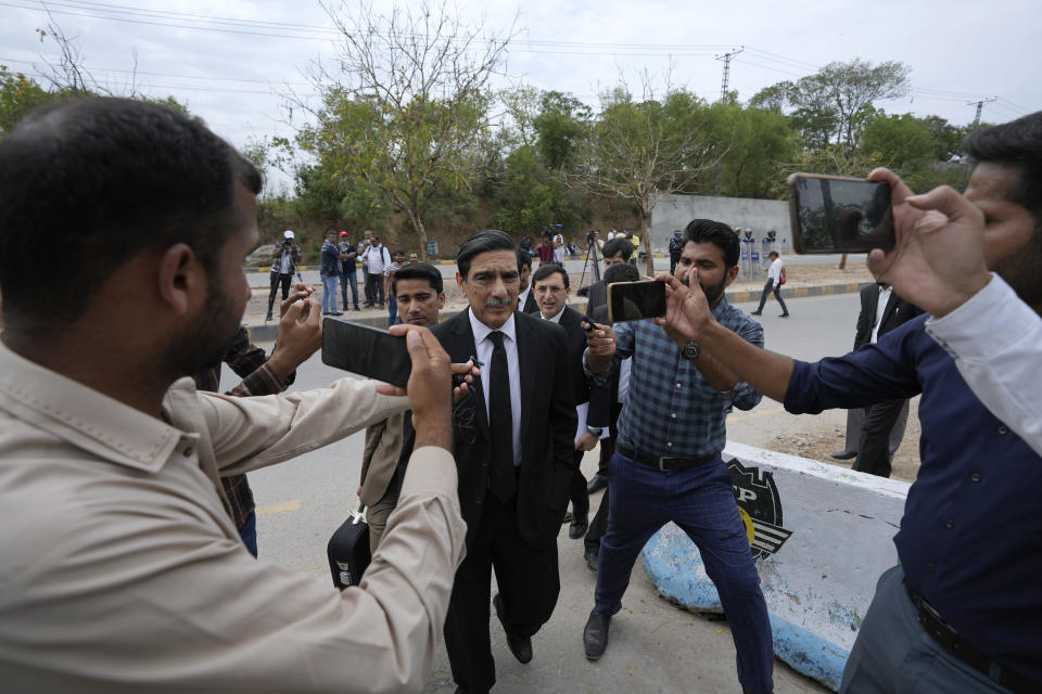
{"type": "MultiPolygon", "coordinates": [[[[635,82],[641,70],[658,76],[670,64],[675,85],[714,100],[723,70],[715,56],[744,47],[730,64],[730,89],[740,101],[831,61],[861,57],[912,68],[911,93],[878,104],[891,113],[964,124],[975,113],[967,101],[993,97],[983,113],[992,123],[1042,108],[1038,0],[459,0],[458,7],[465,21],[483,22],[486,30],[504,33],[517,22],[503,86],[525,82],[590,104],[620,74],[635,82]]],[[[56,64],[56,44],[37,33],[52,21],[100,82],[128,91],[136,55],[138,91],[175,95],[238,145],[291,132],[279,93],[313,91],[302,69],[330,56],[336,38],[317,0],[0,0],[0,64],[30,75],[56,64]]]]}

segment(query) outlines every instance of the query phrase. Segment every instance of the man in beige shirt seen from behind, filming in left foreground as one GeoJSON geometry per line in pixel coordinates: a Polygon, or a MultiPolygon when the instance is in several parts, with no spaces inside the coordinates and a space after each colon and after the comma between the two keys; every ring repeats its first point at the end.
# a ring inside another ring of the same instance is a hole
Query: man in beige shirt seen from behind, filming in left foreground
{"type": "MultiPolygon", "coordinates": [[[[408,401],[355,378],[285,397],[196,391],[189,376],[227,351],[250,296],[260,175],[174,110],[37,108],[0,140],[0,191],[3,689],[420,691],[465,538],[433,335],[394,329],[408,401]],[[25,259],[54,243],[66,253],[41,285],[25,259]],[[220,476],[406,407],[416,452],[364,588],[257,563],[220,476]]],[[[316,300],[294,303],[276,356],[294,335],[320,339],[319,321],[316,300]]]]}

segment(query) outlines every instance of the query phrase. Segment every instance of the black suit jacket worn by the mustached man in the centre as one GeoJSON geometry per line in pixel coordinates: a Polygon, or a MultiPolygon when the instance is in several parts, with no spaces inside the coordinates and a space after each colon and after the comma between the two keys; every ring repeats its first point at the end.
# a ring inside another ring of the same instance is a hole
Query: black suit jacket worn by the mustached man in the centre
{"type": "MultiPolygon", "coordinates": [[[[513,313],[521,371],[521,465],[518,530],[533,547],[556,544],[575,471],[575,404],[564,330],[542,318],[513,313]]],[[[478,354],[470,309],[431,327],[454,362],[478,354]]],[[[486,367],[487,368],[487,367],[486,367]]],[[[470,544],[481,523],[488,489],[492,440],[481,378],[453,407],[453,440],[459,473],[459,505],[470,544]]],[[[415,435],[406,441],[411,452],[415,435]]]]}

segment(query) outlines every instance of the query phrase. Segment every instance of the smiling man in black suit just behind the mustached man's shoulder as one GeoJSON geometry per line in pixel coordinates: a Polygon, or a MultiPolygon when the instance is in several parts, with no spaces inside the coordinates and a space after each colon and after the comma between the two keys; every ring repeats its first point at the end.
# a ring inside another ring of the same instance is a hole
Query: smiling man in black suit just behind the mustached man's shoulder
{"type": "Polygon", "coordinates": [[[586,351],[586,330],[583,327],[583,314],[568,306],[571,286],[568,272],[559,265],[545,265],[532,275],[532,287],[536,303],[539,306],[539,316],[543,320],[557,323],[564,329],[568,339],[568,362],[572,372],[572,400],[575,404],[575,414],[579,417],[579,427],[575,432],[575,475],[569,498],[572,501],[572,523],[568,528],[568,537],[577,540],[583,537],[589,527],[589,494],[586,491],[586,478],[580,471],[583,454],[593,450],[600,437],[599,427],[587,427],[587,410],[589,408],[589,385],[583,372],[583,352],[586,351]],[[589,436],[581,436],[589,434],[589,436]]]}

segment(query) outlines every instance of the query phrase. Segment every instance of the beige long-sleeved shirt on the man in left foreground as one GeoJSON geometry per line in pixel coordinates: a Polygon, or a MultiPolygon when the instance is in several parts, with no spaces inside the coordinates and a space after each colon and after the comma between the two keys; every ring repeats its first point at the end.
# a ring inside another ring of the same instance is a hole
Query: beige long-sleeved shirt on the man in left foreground
{"type": "Polygon", "coordinates": [[[254,560],[217,484],[406,406],[363,381],[237,399],[182,378],[161,421],[0,345],[0,689],[419,691],[465,552],[452,454],[412,454],[343,592],[254,560]]]}

